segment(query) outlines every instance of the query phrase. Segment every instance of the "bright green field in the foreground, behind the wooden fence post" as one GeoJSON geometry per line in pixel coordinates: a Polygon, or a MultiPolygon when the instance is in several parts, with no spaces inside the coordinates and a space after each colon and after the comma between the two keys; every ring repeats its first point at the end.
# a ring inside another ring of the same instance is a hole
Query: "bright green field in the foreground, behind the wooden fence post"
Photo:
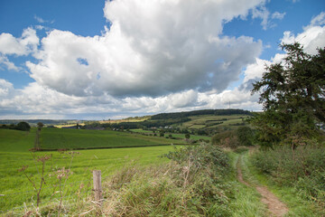
{"type": "MultiPolygon", "coordinates": [[[[70,131],[70,129],[61,130],[70,131]]],[[[25,175],[36,185],[40,183],[42,163],[37,161],[38,156],[51,156],[45,162],[46,184],[43,185],[41,193],[42,202],[46,203],[54,199],[59,200],[57,171],[62,167],[70,168],[71,172],[68,178],[62,181],[65,200],[70,200],[76,199],[80,193],[82,196],[91,193],[92,171],[95,169],[101,170],[102,179],[105,180],[108,175],[123,168],[124,165],[162,164],[168,159],[160,156],[172,150],[172,146],[147,146],[81,150],[78,153],[57,151],[30,153],[28,149],[33,146],[34,136],[34,130],[29,133],[0,130],[0,194],[4,195],[0,196],[0,211],[23,206],[23,203],[27,205],[35,203],[36,193],[25,175]],[[23,165],[28,167],[19,172],[23,165]]]]}

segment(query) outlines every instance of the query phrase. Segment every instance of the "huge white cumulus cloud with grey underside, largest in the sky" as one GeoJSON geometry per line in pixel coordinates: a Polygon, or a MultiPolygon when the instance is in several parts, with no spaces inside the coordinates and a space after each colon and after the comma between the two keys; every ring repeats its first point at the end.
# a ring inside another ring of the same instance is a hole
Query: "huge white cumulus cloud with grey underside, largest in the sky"
{"type": "Polygon", "coordinates": [[[27,67],[43,86],[74,96],[222,91],[262,49],[251,37],[222,35],[222,25],[261,2],[107,1],[109,31],[82,37],[54,30],[42,39],[39,62],[27,67]]]}

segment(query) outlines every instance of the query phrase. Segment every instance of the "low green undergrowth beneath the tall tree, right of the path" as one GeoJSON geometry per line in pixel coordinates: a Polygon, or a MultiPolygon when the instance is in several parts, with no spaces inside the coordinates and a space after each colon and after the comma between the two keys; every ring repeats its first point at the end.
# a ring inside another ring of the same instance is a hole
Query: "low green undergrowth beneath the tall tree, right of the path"
{"type": "Polygon", "coordinates": [[[288,146],[259,151],[253,164],[271,175],[281,185],[292,186],[296,193],[325,205],[325,148],[323,146],[288,146]]]}

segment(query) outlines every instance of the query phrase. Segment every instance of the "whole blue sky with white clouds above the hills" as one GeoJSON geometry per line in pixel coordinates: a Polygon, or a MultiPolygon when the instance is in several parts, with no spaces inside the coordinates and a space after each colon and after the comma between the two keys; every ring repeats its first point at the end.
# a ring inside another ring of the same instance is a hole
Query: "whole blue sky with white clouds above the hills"
{"type": "Polygon", "coordinates": [[[0,0],[0,119],[261,110],[292,42],[325,46],[325,1],[0,0]]]}

